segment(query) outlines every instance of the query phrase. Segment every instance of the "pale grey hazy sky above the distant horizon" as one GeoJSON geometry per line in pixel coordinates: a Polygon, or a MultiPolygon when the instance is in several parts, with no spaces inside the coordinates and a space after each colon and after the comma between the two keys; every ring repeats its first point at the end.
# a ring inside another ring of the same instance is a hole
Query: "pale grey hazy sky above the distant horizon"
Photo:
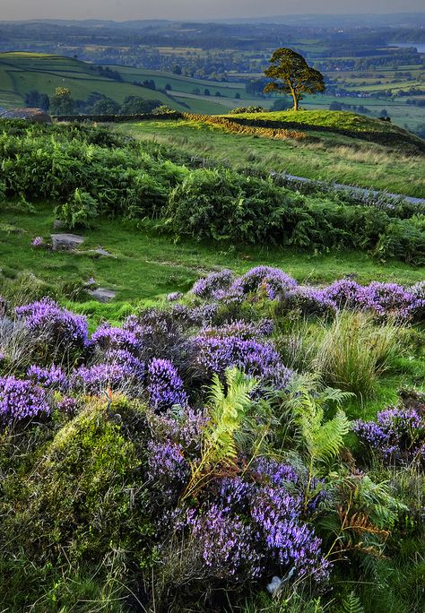
{"type": "Polygon", "coordinates": [[[0,0],[0,21],[227,19],[285,14],[422,12],[423,0],[0,0]]]}

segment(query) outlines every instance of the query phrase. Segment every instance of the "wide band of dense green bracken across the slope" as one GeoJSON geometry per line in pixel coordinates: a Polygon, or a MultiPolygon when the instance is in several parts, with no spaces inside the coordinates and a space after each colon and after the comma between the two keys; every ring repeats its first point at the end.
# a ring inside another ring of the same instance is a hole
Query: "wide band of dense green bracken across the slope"
{"type": "Polygon", "coordinates": [[[51,133],[19,123],[12,134],[4,130],[0,185],[4,198],[55,201],[70,229],[90,227],[107,214],[159,220],[175,237],[266,241],[310,252],[361,248],[378,259],[424,263],[419,207],[377,207],[337,193],[301,195],[270,177],[187,168],[107,131],[69,125],[51,133]]]}

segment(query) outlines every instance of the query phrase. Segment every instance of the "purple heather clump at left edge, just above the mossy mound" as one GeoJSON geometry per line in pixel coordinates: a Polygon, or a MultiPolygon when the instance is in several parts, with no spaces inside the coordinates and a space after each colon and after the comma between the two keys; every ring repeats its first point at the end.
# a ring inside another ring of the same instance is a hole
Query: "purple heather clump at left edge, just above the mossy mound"
{"type": "Polygon", "coordinates": [[[49,415],[48,397],[39,385],[14,376],[0,377],[0,420],[11,424],[15,420],[49,415]]]}

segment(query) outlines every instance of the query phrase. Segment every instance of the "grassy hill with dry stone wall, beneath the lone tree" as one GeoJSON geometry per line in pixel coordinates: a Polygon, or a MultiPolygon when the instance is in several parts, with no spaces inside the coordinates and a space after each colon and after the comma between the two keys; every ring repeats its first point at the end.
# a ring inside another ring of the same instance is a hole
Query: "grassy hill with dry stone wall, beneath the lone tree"
{"type": "Polygon", "coordinates": [[[214,123],[213,117],[187,117],[166,124],[130,123],[118,129],[134,138],[166,142],[200,160],[220,162],[251,174],[287,172],[326,183],[424,197],[425,142],[396,125],[341,111],[228,115],[218,120],[214,123]],[[226,126],[223,119],[230,124],[226,126]],[[238,123],[242,127],[260,126],[258,134],[240,134],[238,123]],[[309,138],[277,139],[267,136],[267,130],[259,138],[262,127],[268,125],[295,128],[309,138]]]}

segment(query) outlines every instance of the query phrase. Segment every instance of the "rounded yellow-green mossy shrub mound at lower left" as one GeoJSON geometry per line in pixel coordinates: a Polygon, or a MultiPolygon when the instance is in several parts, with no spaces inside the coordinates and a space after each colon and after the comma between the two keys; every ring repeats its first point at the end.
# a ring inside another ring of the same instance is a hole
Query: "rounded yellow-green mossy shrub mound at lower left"
{"type": "Polygon", "coordinates": [[[62,427],[26,484],[27,508],[11,511],[8,529],[18,543],[10,545],[24,539],[39,565],[66,565],[64,547],[76,566],[101,563],[111,548],[142,555],[149,522],[135,481],[141,461],[126,428],[117,426],[117,412],[127,427],[141,419],[126,402],[115,400],[108,412],[98,401],[62,427]]]}

